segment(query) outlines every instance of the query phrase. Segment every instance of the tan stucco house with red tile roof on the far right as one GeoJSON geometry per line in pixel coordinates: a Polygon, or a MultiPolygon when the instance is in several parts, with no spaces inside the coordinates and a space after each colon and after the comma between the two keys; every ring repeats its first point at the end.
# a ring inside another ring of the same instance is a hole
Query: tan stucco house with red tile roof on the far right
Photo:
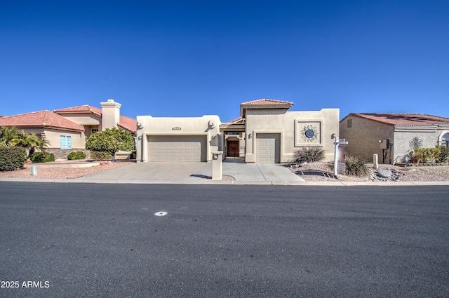
{"type": "Polygon", "coordinates": [[[415,147],[448,147],[449,118],[424,114],[349,114],[340,121],[347,154],[403,163],[415,147]]]}

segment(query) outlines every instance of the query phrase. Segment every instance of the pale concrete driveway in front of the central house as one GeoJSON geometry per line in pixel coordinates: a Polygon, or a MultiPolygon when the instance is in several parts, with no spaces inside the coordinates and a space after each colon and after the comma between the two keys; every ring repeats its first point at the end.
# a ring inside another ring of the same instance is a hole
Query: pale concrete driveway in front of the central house
{"type": "MultiPolygon", "coordinates": [[[[211,181],[212,163],[133,163],[80,177],[78,182],[199,183],[211,181]],[[205,179],[206,178],[206,179],[205,179]],[[205,181],[206,180],[206,181],[205,181]]],[[[222,175],[236,182],[290,183],[304,180],[279,164],[223,162],[222,175]]],[[[229,182],[232,183],[232,182],[229,182]]]]}

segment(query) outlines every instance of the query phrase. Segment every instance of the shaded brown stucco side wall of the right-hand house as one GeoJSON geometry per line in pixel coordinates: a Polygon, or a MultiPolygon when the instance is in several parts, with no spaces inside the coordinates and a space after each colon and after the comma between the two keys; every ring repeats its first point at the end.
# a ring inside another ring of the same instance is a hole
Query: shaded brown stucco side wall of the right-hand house
{"type": "MultiPolygon", "coordinates": [[[[377,121],[371,121],[355,116],[348,116],[340,122],[340,138],[346,139],[346,152],[352,156],[359,156],[366,161],[373,161],[373,155],[379,156],[379,162],[382,163],[382,149],[379,140],[394,140],[394,126],[389,126],[377,121]],[[348,121],[351,121],[351,127],[348,128],[348,121]]],[[[393,152],[391,152],[391,156],[393,152]]],[[[385,163],[389,163],[389,149],[385,163]]]]}

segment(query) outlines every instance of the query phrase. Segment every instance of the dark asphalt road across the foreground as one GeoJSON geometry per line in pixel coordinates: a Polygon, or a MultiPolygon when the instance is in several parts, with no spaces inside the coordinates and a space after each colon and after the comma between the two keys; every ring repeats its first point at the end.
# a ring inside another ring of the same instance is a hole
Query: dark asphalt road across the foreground
{"type": "Polygon", "coordinates": [[[0,297],[449,297],[449,187],[0,182],[0,208],[0,297]]]}

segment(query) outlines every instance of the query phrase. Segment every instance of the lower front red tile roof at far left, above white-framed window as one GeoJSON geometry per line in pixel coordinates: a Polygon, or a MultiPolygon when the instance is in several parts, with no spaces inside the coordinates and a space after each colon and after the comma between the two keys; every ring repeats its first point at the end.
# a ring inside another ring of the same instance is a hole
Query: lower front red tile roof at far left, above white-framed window
{"type": "Polygon", "coordinates": [[[53,111],[34,111],[27,114],[5,116],[0,118],[0,126],[16,126],[18,128],[53,128],[56,130],[84,131],[73,121],[70,121],[53,111]]]}

